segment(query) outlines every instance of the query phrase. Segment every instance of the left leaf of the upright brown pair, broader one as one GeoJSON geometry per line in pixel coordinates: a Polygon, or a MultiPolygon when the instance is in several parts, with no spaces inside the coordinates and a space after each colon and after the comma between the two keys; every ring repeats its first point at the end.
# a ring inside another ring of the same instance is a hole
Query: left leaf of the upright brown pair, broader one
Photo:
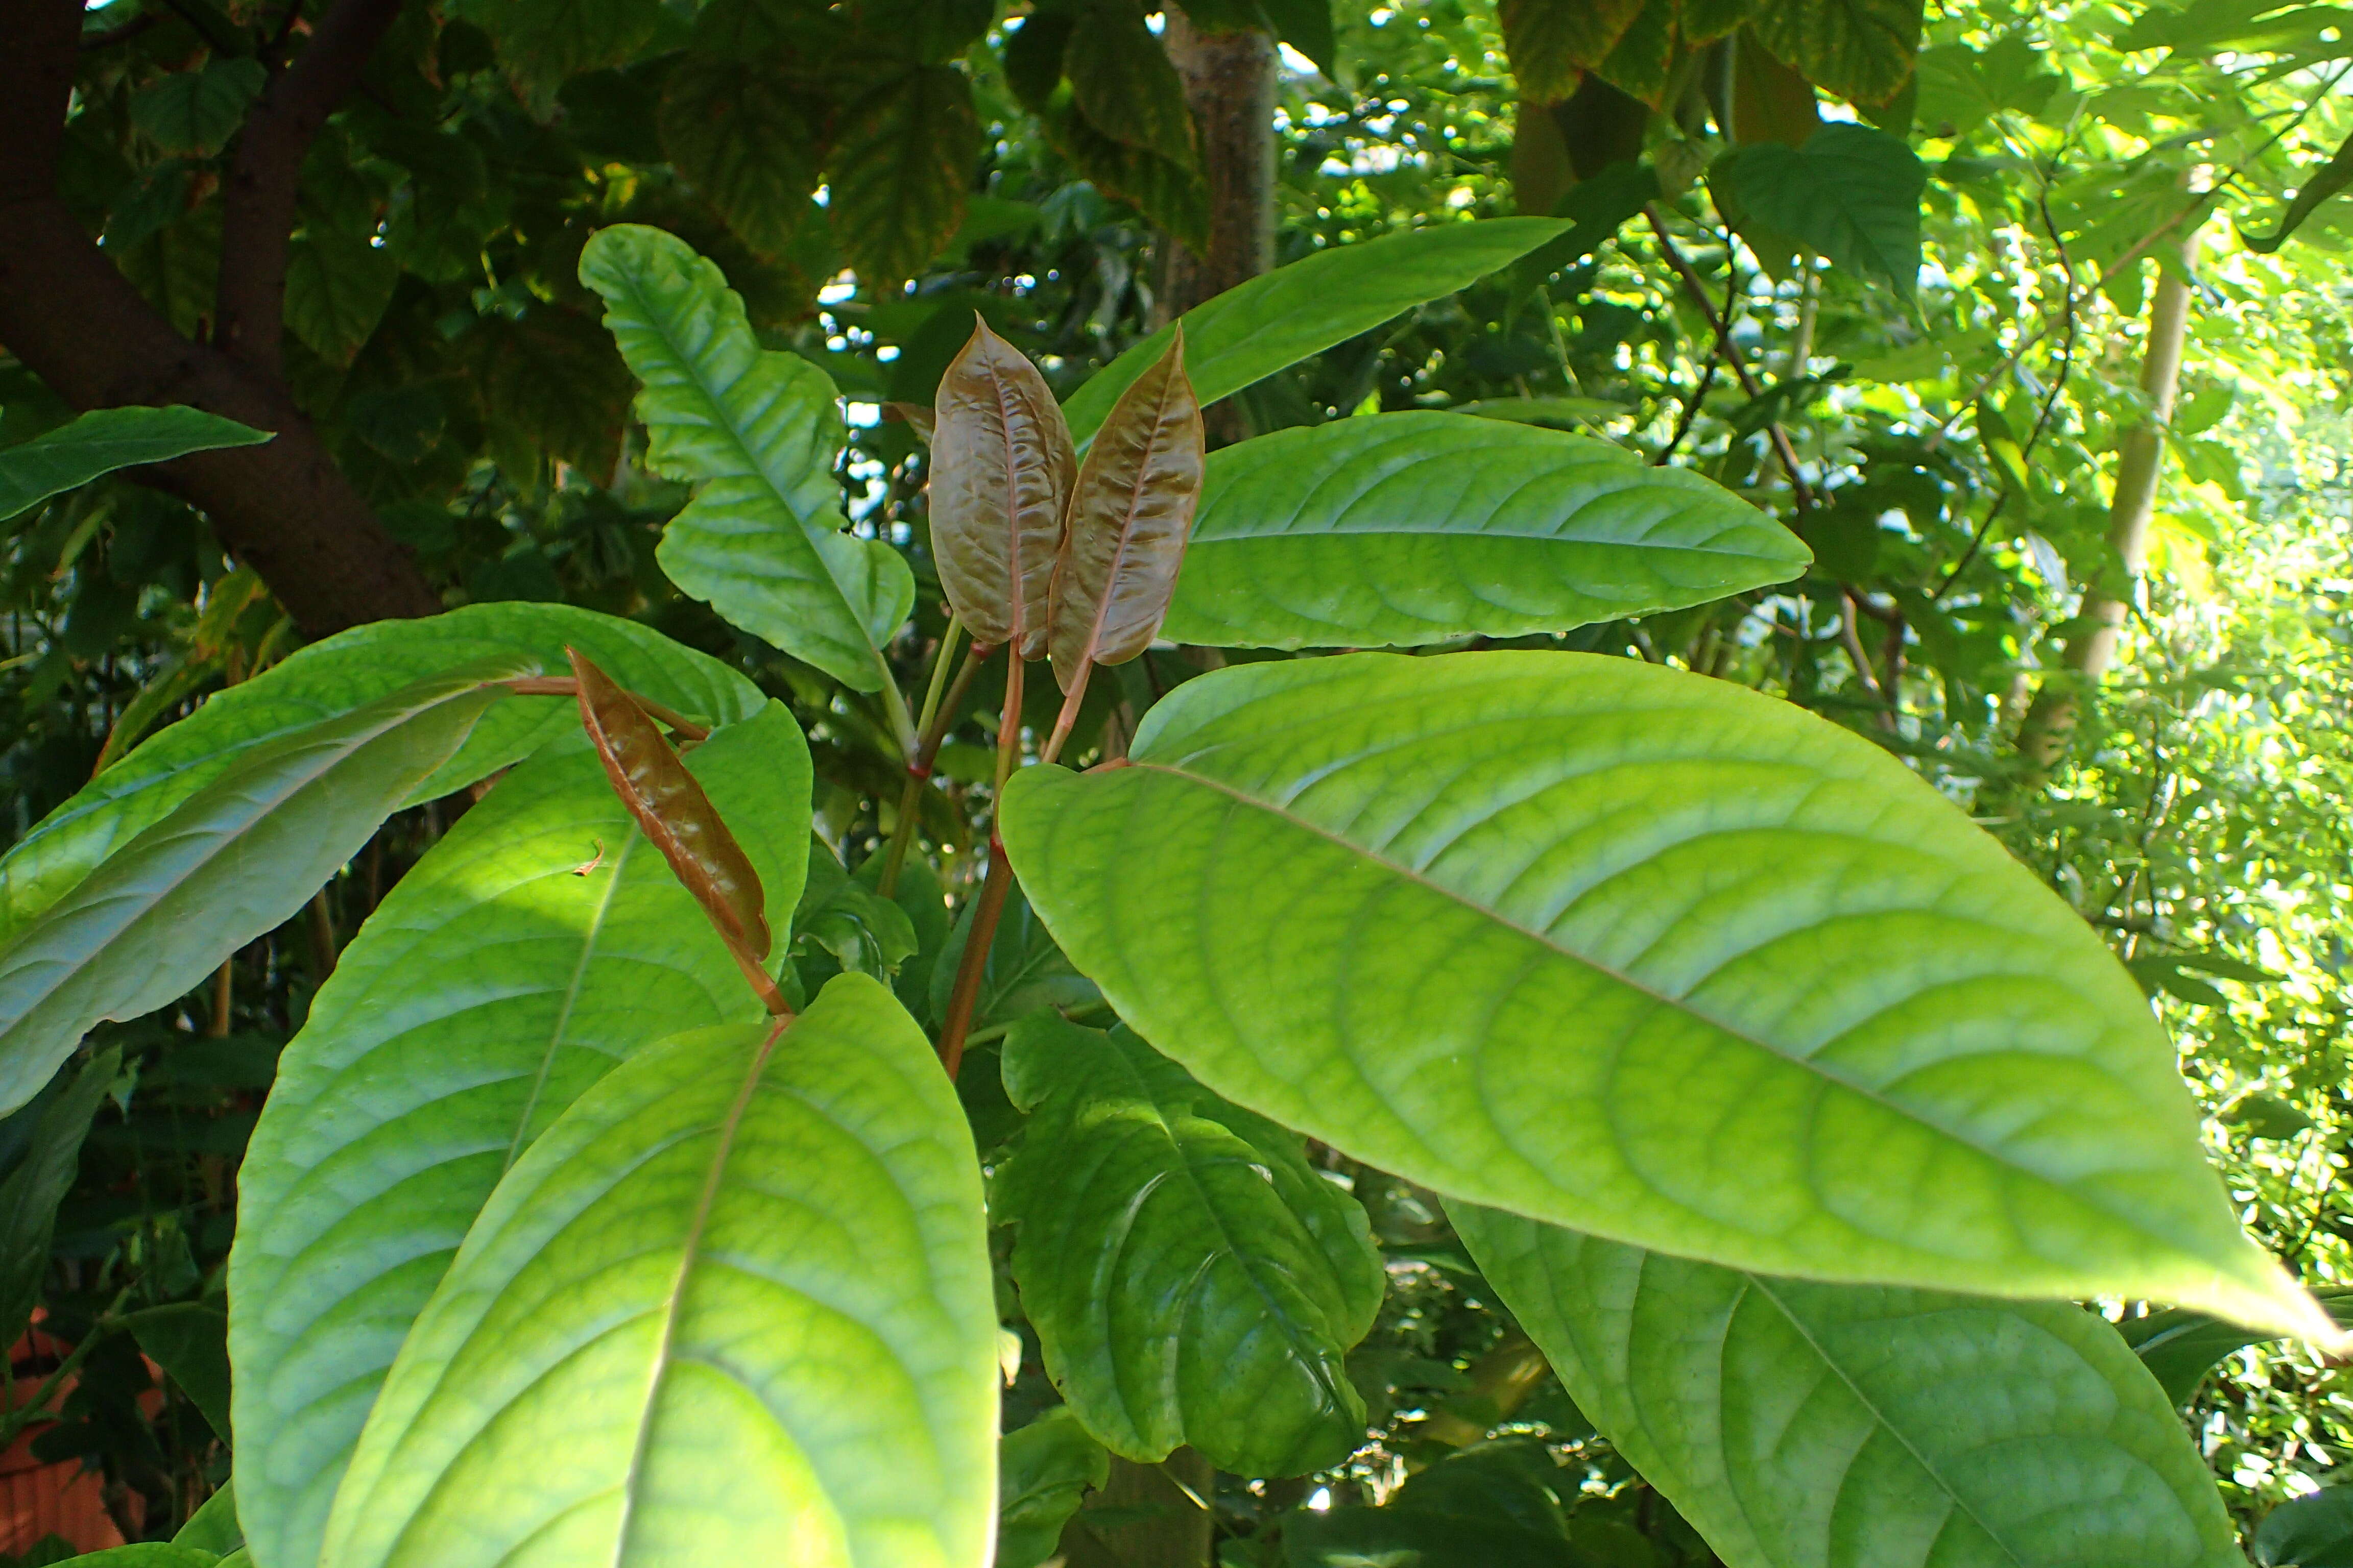
{"type": "Polygon", "coordinates": [[[1028,357],[974,320],[939,381],[932,425],[932,555],[974,646],[1047,644],[1047,590],[1078,454],[1028,357]]]}

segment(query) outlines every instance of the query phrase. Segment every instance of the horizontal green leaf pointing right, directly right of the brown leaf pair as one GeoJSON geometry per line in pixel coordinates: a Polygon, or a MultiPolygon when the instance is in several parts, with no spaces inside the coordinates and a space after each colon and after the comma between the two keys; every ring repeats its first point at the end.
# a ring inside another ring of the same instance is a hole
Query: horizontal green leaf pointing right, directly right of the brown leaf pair
{"type": "Polygon", "coordinates": [[[1624,447],[1459,414],[1374,414],[1209,456],[1162,635],[1212,646],[1522,637],[1798,576],[1779,522],[1624,447]]]}

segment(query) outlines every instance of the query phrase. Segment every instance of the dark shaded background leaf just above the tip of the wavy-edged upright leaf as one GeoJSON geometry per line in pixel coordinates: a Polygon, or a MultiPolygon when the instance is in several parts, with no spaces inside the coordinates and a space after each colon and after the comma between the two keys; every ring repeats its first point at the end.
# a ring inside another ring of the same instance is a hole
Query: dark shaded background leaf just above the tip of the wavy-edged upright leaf
{"type": "MultiPolygon", "coordinates": [[[[708,14],[708,12],[706,12],[708,14]]],[[[661,148],[751,244],[793,242],[821,181],[809,85],[769,56],[689,49],[661,82],[661,148]]]]}

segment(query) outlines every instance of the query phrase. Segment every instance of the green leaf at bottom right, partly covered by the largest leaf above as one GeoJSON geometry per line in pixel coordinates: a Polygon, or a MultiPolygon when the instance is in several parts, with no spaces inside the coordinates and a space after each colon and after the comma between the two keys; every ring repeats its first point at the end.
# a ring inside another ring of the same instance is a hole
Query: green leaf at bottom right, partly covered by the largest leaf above
{"type": "Polygon", "coordinates": [[[1826,1286],[1447,1204],[1602,1434],[1727,1568],[2233,1568],[2165,1394],[2066,1302],[1826,1286]]]}

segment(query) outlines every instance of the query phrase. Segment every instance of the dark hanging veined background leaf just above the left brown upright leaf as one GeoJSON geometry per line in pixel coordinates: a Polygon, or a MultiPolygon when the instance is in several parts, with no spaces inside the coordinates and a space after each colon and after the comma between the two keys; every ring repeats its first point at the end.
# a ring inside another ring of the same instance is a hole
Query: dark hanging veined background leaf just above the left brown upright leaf
{"type": "Polygon", "coordinates": [[[878,294],[892,294],[955,237],[981,125],[955,66],[918,66],[842,113],[828,160],[833,237],[878,294]]]}

